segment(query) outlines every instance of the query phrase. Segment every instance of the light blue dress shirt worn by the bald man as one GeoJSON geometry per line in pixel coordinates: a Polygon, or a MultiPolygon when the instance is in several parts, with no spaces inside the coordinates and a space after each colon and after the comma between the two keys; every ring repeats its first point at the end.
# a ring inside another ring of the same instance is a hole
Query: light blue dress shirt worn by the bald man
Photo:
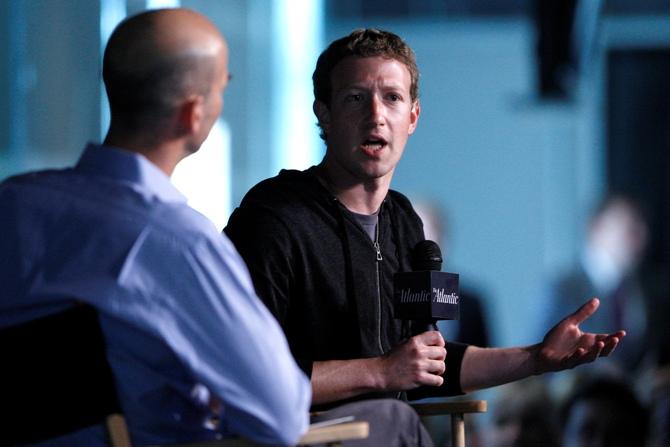
{"type": "Polygon", "coordinates": [[[307,428],[309,381],[242,259],[141,155],[89,145],[74,168],[3,182],[0,284],[0,327],[98,309],[135,445],[307,428]]]}

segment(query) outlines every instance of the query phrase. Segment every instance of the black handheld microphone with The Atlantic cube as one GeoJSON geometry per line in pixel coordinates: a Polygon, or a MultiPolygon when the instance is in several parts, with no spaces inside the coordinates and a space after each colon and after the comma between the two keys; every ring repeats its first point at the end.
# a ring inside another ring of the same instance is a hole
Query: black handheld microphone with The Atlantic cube
{"type": "Polygon", "coordinates": [[[437,330],[437,320],[458,320],[458,274],[441,272],[442,253],[437,243],[421,241],[412,250],[411,272],[393,277],[395,318],[414,320],[412,335],[437,330]]]}

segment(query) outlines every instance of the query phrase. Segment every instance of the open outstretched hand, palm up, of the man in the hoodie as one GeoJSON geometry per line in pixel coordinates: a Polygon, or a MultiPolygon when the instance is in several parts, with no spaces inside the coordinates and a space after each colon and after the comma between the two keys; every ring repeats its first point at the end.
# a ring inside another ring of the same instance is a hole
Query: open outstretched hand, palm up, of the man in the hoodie
{"type": "Polygon", "coordinates": [[[612,334],[583,332],[579,325],[600,306],[592,298],[575,313],[554,326],[539,345],[536,374],[574,368],[598,357],[610,355],[626,335],[623,330],[612,334]]]}

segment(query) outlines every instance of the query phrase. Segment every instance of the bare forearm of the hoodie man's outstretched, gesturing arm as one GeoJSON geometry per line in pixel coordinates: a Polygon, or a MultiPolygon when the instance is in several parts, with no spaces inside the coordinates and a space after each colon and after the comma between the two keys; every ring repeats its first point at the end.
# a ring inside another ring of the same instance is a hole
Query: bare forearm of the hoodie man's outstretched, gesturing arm
{"type": "Polygon", "coordinates": [[[539,345],[515,348],[479,348],[470,346],[463,356],[461,388],[472,392],[538,373],[539,345]]]}

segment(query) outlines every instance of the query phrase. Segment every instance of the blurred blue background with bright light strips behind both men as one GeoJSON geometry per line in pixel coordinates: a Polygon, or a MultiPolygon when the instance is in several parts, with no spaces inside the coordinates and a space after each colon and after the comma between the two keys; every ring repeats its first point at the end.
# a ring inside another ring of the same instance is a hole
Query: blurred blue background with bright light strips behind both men
{"type": "Polygon", "coordinates": [[[635,268],[649,307],[665,309],[667,0],[1,1],[0,179],[71,165],[101,140],[107,37],[126,15],[165,6],[204,13],[230,47],[222,119],[175,173],[219,228],[252,185],[321,159],[316,58],[354,28],[379,27],[409,43],[421,71],[419,127],[393,187],[437,210],[445,270],[476,291],[491,344],[539,341],[547,289],[580,262],[589,219],[614,193],[639,205],[635,268]]]}

